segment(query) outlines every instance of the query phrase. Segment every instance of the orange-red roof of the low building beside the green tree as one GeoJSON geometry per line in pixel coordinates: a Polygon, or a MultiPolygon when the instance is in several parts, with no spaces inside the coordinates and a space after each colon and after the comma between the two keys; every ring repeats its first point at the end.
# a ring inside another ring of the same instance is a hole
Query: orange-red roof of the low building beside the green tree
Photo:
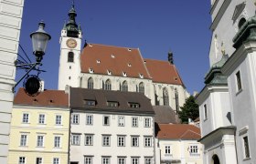
{"type": "Polygon", "coordinates": [[[156,138],[166,139],[199,139],[200,128],[188,124],[158,124],[156,138]]]}

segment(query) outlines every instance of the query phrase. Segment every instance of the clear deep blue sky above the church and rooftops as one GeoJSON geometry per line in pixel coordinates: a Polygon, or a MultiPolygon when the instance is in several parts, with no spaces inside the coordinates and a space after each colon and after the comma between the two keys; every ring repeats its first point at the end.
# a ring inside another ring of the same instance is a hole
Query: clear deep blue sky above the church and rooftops
{"type": "MultiPolygon", "coordinates": [[[[47,72],[39,75],[47,89],[58,88],[59,36],[70,7],[71,0],[25,1],[20,44],[27,55],[34,59],[29,35],[40,20],[52,36],[41,67],[47,72]]],[[[75,8],[82,46],[86,39],[88,43],[139,47],[144,58],[160,60],[167,60],[171,49],[187,91],[192,94],[204,87],[211,38],[209,0],[76,0],[75,8]]],[[[24,71],[16,74],[18,78],[24,71]]]]}

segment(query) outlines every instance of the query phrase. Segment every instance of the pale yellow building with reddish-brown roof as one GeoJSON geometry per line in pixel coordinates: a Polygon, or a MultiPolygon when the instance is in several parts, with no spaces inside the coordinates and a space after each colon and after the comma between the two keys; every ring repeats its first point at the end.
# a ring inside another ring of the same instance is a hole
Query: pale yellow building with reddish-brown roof
{"type": "Polygon", "coordinates": [[[9,164],[68,163],[69,101],[64,91],[28,97],[20,89],[12,112],[9,164]]]}

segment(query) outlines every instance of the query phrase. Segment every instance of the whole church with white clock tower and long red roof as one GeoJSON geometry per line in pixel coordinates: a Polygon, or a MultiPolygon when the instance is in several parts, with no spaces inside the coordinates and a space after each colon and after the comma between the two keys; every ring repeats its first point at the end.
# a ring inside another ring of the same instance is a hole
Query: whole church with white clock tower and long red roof
{"type": "Polygon", "coordinates": [[[146,59],[138,48],[85,43],[74,5],[60,36],[59,89],[66,86],[140,92],[154,106],[176,111],[189,96],[173,62],[146,59]],[[82,47],[82,48],[81,48],[82,47]]]}

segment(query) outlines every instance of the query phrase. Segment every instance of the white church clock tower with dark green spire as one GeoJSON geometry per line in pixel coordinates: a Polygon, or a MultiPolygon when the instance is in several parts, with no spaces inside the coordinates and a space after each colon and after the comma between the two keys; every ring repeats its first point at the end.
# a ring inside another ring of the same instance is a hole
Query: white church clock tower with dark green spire
{"type": "Polygon", "coordinates": [[[59,39],[59,90],[65,87],[80,87],[80,48],[81,30],[76,24],[76,10],[74,3],[69,10],[69,21],[61,30],[59,39]]]}

